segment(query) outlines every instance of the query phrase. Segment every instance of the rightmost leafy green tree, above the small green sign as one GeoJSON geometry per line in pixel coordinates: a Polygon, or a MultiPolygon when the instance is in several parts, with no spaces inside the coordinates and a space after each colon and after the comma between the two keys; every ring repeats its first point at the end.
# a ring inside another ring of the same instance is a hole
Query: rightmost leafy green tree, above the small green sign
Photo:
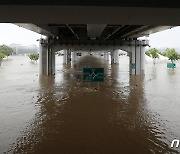
{"type": "Polygon", "coordinates": [[[174,61],[180,59],[180,55],[173,48],[167,48],[166,55],[169,58],[169,60],[171,60],[172,63],[174,63],[174,61]]]}

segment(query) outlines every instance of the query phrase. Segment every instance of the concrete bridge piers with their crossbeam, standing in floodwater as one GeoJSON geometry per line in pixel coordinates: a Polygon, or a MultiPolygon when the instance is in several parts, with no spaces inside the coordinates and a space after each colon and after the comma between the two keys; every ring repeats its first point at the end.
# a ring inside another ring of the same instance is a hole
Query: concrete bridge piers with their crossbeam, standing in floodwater
{"type": "Polygon", "coordinates": [[[64,49],[64,64],[68,64],[71,58],[76,61],[77,53],[81,53],[83,56],[84,52],[82,50],[88,49],[90,52],[101,51],[104,54],[104,58],[109,60],[108,51],[111,50],[111,63],[119,63],[119,49],[130,52],[130,74],[140,75],[144,74],[144,63],[145,63],[145,44],[143,41],[133,41],[132,44],[116,45],[116,46],[62,46],[60,44],[48,44],[40,42],[40,74],[52,75],[55,74],[55,52],[64,49]],[[71,50],[74,50],[73,53],[71,50]],[[78,50],[79,48],[79,50],[78,50]],[[93,48],[93,49],[92,49],[93,48]],[[80,50],[82,49],[82,50],[80,50]],[[106,52],[105,52],[106,51],[106,52]],[[71,56],[72,55],[72,56],[71,56]]]}

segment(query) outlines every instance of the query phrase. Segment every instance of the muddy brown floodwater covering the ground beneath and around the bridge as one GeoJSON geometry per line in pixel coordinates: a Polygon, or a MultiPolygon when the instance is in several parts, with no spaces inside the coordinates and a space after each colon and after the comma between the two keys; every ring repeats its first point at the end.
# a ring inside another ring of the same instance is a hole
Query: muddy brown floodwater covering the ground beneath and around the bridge
{"type": "Polygon", "coordinates": [[[0,153],[179,153],[180,63],[146,64],[129,76],[129,60],[110,65],[86,56],[75,65],[56,57],[56,76],[38,75],[26,56],[0,67],[0,153]],[[104,67],[103,83],[78,82],[80,64],[104,67]]]}

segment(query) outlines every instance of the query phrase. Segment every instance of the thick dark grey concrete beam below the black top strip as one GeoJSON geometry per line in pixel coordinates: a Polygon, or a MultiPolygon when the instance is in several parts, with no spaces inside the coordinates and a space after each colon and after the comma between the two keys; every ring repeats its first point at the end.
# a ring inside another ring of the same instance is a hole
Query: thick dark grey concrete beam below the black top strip
{"type": "Polygon", "coordinates": [[[3,23],[177,26],[179,19],[177,8],[0,5],[3,23]]]}

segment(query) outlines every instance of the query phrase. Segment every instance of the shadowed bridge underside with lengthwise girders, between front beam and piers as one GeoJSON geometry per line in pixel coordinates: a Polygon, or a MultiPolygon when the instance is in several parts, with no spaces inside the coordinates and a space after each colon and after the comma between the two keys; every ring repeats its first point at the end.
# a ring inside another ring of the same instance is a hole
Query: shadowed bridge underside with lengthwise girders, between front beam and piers
{"type": "Polygon", "coordinates": [[[85,42],[98,40],[102,43],[112,40],[136,39],[152,33],[172,28],[173,26],[148,25],[112,25],[112,24],[23,24],[16,25],[26,29],[56,37],[61,42],[85,42]]]}

